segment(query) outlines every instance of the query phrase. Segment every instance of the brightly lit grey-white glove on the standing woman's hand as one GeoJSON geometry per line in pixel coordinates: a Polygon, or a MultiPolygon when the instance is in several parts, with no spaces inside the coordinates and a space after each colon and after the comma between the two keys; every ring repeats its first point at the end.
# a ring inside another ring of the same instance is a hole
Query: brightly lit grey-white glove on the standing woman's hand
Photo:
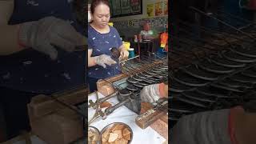
{"type": "Polygon", "coordinates": [[[109,55],[106,55],[106,54],[102,54],[100,56],[94,57],[94,62],[104,68],[106,68],[106,65],[111,66],[117,63],[112,58],[110,58],[109,55]]]}

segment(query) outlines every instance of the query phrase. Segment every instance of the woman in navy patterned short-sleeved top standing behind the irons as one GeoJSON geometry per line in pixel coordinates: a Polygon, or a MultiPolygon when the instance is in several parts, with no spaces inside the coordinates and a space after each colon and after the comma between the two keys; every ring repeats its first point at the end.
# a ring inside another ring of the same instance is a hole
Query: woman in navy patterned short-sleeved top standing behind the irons
{"type": "Polygon", "coordinates": [[[97,90],[98,79],[120,74],[118,59],[128,58],[128,51],[122,44],[118,31],[109,26],[110,6],[107,0],[94,0],[90,5],[92,22],[88,26],[88,82],[90,91],[97,90]],[[111,58],[111,49],[118,48],[120,58],[111,58]]]}

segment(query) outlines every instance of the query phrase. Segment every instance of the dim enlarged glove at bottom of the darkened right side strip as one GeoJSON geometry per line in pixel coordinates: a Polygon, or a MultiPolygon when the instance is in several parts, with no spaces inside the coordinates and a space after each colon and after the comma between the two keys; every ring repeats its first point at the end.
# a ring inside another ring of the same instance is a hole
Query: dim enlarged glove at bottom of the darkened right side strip
{"type": "Polygon", "coordinates": [[[183,116],[170,130],[172,144],[230,144],[230,109],[183,116]]]}

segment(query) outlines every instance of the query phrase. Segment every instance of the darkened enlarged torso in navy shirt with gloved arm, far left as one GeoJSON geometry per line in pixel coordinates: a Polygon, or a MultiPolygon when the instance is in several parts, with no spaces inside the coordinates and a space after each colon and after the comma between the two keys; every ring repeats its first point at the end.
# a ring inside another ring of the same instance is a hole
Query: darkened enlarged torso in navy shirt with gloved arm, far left
{"type": "MultiPolygon", "coordinates": [[[[30,130],[26,105],[32,97],[86,85],[86,52],[75,49],[86,46],[86,30],[79,22],[72,26],[70,19],[48,15],[8,25],[10,12],[13,7],[18,8],[12,5],[7,10],[8,2],[0,2],[0,9],[6,10],[0,17],[0,118],[6,123],[6,139],[17,136],[21,130],[30,130]]],[[[51,1],[47,5],[43,5],[46,1],[34,2],[38,10],[52,5],[51,1]]],[[[24,5],[27,4],[30,3],[24,5]]],[[[25,16],[30,15],[33,14],[25,16]]]]}

